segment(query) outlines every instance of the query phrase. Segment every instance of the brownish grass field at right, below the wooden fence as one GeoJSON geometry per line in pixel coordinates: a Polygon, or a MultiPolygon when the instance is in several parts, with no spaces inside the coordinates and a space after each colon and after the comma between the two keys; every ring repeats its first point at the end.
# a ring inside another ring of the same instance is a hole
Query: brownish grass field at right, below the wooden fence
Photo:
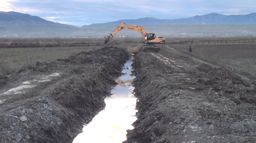
{"type": "MultiPolygon", "coordinates": [[[[189,45],[172,45],[188,55],[189,45]]],[[[192,45],[192,56],[256,79],[256,45],[192,45]]]]}

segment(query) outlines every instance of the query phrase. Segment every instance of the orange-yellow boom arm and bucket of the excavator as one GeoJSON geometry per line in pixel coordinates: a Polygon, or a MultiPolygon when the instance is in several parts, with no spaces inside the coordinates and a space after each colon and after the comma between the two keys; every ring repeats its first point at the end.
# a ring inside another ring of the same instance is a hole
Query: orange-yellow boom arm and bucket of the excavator
{"type": "Polygon", "coordinates": [[[105,36],[104,37],[104,44],[108,43],[108,41],[110,39],[112,39],[114,36],[117,35],[117,33],[119,33],[122,29],[127,29],[127,30],[132,30],[132,31],[138,31],[140,33],[142,33],[142,37],[143,39],[145,39],[147,32],[145,31],[144,28],[140,27],[140,26],[136,26],[136,25],[131,25],[131,24],[126,24],[126,23],[122,23],[120,24],[116,29],[114,29],[114,31],[112,33],[110,33],[109,36],[105,36]],[[129,25],[131,27],[124,27],[124,25],[129,25]]]}

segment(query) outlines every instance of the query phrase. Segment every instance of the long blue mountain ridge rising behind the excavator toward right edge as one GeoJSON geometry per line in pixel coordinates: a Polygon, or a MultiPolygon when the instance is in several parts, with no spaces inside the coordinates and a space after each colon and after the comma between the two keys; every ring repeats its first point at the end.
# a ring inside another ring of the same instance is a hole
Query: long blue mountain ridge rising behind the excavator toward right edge
{"type": "Polygon", "coordinates": [[[128,23],[133,25],[166,25],[166,24],[255,24],[256,13],[250,13],[248,15],[221,15],[218,13],[210,13],[202,16],[193,16],[183,19],[156,19],[154,17],[145,17],[140,19],[127,19],[118,20],[108,23],[95,23],[91,25],[84,25],[86,28],[97,28],[97,27],[109,27],[118,26],[121,23],[128,23]]]}

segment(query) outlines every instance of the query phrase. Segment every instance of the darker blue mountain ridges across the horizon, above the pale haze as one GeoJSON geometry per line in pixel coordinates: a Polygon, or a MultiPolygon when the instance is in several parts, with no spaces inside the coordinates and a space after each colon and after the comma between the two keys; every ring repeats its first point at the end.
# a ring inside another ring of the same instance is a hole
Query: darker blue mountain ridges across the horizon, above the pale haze
{"type": "MultiPolygon", "coordinates": [[[[108,23],[94,23],[90,25],[83,25],[82,28],[105,28],[118,26],[121,23],[128,23],[133,25],[168,25],[168,24],[255,24],[256,13],[247,15],[221,15],[218,13],[210,13],[202,16],[193,16],[182,19],[156,19],[154,17],[144,17],[140,19],[124,19],[108,23]]],[[[48,25],[48,26],[64,26],[75,27],[73,25],[54,23],[42,19],[38,16],[31,16],[29,14],[19,12],[0,12],[0,26],[14,26],[14,25],[48,25]]]]}

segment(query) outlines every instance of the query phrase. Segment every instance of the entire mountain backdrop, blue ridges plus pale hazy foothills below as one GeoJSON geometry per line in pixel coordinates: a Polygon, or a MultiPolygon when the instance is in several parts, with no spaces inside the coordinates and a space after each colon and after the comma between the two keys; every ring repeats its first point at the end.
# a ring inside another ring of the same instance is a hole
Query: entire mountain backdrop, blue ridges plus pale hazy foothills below
{"type": "MultiPolygon", "coordinates": [[[[147,32],[155,32],[158,35],[179,35],[181,33],[256,33],[256,13],[229,16],[210,13],[173,20],[144,17],[77,27],[54,23],[53,21],[24,13],[0,12],[0,37],[106,36],[121,23],[140,25],[147,32]]],[[[139,32],[134,31],[120,31],[118,35],[141,36],[139,32]]]]}

